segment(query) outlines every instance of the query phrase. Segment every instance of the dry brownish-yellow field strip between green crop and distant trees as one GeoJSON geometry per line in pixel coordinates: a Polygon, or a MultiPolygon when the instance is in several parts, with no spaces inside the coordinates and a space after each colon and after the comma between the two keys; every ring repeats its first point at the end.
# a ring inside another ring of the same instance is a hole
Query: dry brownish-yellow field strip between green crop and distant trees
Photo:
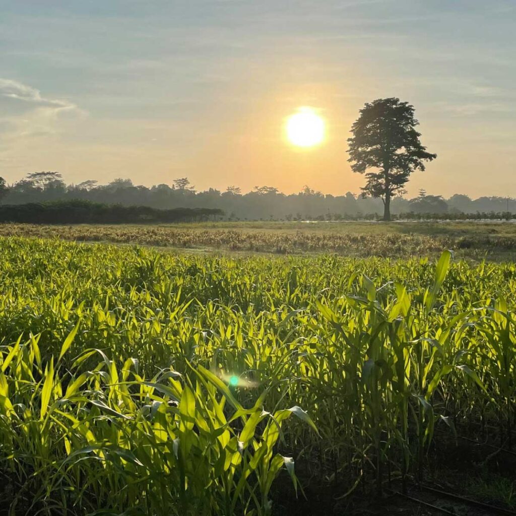
{"type": "Polygon", "coordinates": [[[438,256],[514,260],[516,224],[507,222],[223,222],[174,225],[2,224],[0,235],[138,244],[176,250],[350,256],[438,256]]]}

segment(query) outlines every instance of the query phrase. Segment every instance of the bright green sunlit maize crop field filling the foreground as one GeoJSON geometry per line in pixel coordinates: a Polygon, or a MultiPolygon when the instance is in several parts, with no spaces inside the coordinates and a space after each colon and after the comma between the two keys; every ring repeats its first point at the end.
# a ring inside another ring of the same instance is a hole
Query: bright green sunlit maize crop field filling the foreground
{"type": "Polygon", "coordinates": [[[516,505],[512,263],[0,253],[0,513],[385,514],[364,500],[404,489],[494,513],[435,488],[516,505]]]}

